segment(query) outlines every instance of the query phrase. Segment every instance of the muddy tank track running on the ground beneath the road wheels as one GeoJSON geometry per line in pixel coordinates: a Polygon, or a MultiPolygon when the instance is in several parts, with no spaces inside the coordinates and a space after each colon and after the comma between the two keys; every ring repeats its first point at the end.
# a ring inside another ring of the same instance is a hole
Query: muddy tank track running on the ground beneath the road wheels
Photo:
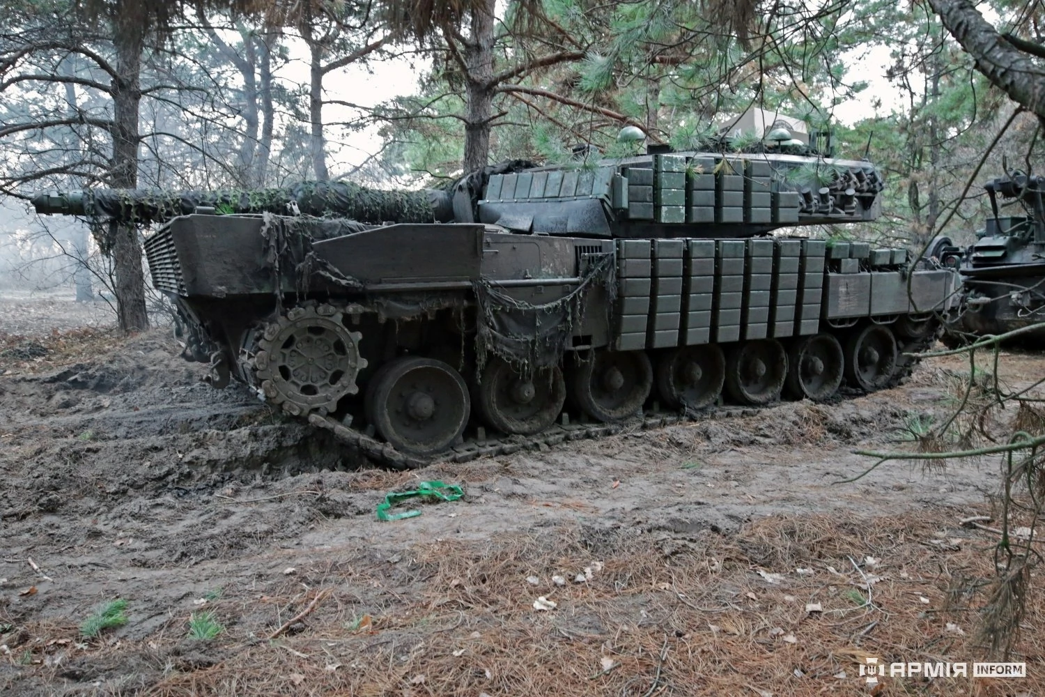
{"type": "MultiPolygon", "coordinates": [[[[930,333],[923,339],[912,339],[903,342],[900,347],[900,361],[897,369],[885,389],[893,388],[910,376],[914,366],[921,361],[921,354],[936,341],[938,332],[930,333]],[[912,353],[915,355],[904,355],[912,353]]],[[[764,406],[714,406],[700,412],[678,414],[663,413],[653,410],[649,414],[635,415],[623,421],[613,423],[574,423],[573,419],[564,419],[565,423],[556,423],[551,428],[533,436],[492,436],[484,439],[465,438],[463,443],[452,446],[439,455],[426,458],[407,455],[396,450],[374,436],[344,425],[333,417],[319,413],[308,415],[308,422],[316,427],[329,431],[342,443],[356,448],[376,464],[393,469],[417,469],[436,462],[463,463],[482,457],[512,455],[526,450],[538,450],[542,447],[554,447],[566,441],[599,439],[616,436],[622,433],[652,431],[678,423],[691,423],[704,419],[724,419],[753,416],[764,409],[780,402],[764,406]]]]}

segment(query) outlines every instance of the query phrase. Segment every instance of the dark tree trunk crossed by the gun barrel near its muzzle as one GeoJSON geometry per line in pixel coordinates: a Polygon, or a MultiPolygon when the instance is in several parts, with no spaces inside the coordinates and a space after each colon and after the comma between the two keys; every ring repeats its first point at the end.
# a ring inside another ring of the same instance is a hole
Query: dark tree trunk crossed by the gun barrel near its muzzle
{"type": "MultiPolygon", "coordinates": [[[[121,13],[119,18],[136,13],[121,13]]],[[[138,111],[141,102],[141,53],[144,27],[133,20],[117,20],[116,76],[113,94],[113,162],[110,183],[116,188],[133,189],[138,185],[138,111]]],[[[113,225],[110,229],[110,254],[115,273],[116,315],[121,331],[148,328],[145,311],[145,277],[141,263],[138,228],[113,225]]]]}

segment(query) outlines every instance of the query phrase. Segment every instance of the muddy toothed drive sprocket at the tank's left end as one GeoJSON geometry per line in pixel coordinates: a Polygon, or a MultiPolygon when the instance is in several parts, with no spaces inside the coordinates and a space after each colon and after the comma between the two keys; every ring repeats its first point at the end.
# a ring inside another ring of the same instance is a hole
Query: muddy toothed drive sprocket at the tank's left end
{"type": "Polygon", "coordinates": [[[355,378],[367,367],[357,331],[349,331],[332,305],[303,305],[265,326],[254,354],[254,377],[269,401],[295,416],[338,409],[359,391],[355,378]]]}

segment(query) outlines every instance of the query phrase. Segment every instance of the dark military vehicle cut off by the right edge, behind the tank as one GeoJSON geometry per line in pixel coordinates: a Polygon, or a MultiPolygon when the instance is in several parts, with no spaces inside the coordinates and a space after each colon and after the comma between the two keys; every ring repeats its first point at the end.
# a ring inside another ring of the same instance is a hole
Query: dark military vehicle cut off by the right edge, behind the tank
{"type": "MultiPolygon", "coordinates": [[[[976,232],[976,241],[960,249],[939,236],[926,255],[961,275],[959,310],[946,327],[951,345],[1045,321],[1045,177],[1014,171],[983,188],[993,217],[976,232]],[[1002,215],[1001,207],[1008,214],[1002,215]]],[[[1017,341],[1040,348],[1045,329],[1030,329],[1017,341]]]]}

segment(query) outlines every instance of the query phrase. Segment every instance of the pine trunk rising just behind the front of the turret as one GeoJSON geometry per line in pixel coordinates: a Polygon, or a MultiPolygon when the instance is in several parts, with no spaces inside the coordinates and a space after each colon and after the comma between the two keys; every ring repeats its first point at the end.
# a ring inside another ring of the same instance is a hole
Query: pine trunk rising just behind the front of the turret
{"type": "MultiPolygon", "coordinates": [[[[485,0],[471,16],[471,36],[464,47],[467,66],[464,125],[464,170],[485,167],[490,158],[490,118],[493,114],[493,11],[495,0],[485,0]]],[[[449,40],[449,38],[447,38],[449,40]]]]}

